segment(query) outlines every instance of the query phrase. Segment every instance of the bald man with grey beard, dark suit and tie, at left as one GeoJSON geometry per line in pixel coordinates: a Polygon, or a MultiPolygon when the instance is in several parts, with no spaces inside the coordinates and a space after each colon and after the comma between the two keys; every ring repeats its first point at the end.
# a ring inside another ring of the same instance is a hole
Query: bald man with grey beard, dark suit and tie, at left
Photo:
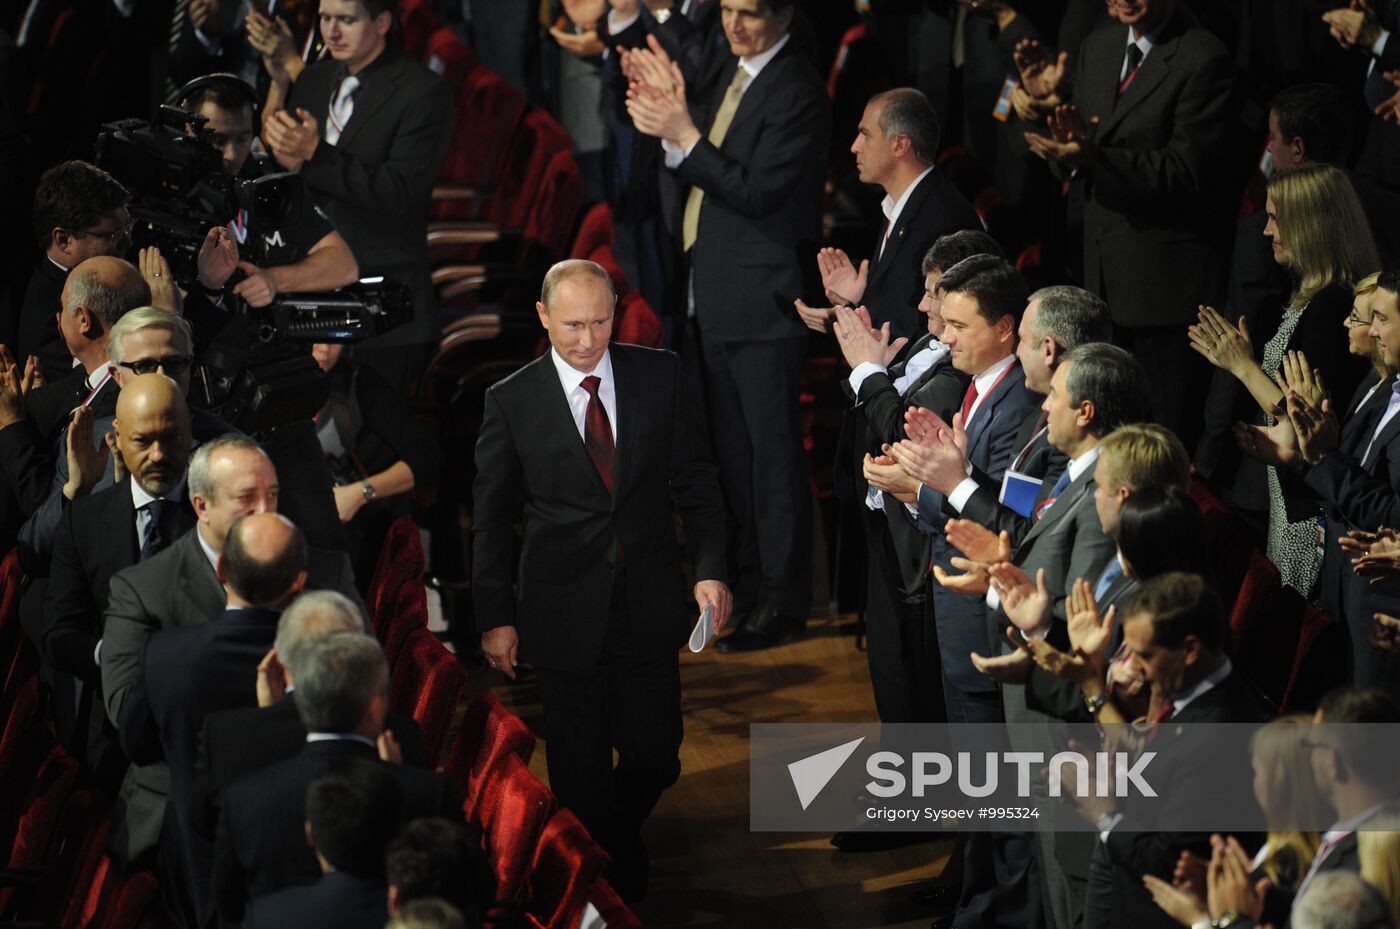
{"type": "MultiPolygon", "coordinates": [[[[113,574],[154,555],[195,525],[185,492],[192,439],[183,392],[161,374],[130,378],[116,403],[113,432],[130,478],[64,508],[38,644],[64,679],[55,688],[77,686],[80,693],[71,714],[60,715],[60,737],[104,783],[115,786],[126,761],[102,712],[102,614],[113,574]]],[[[56,701],[56,709],[66,705],[56,701]]]]}

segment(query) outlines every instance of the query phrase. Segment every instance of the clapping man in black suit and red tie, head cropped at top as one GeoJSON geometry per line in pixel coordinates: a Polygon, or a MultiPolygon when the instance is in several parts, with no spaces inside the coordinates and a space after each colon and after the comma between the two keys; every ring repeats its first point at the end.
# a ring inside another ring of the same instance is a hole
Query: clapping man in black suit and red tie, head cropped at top
{"type": "Polygon", "coordinates": [[[1156,421],[1190,446],[1210,378],[1183,332],[1225,287],[1235,64],[1180,0],[1109,11],[1120,25],[1084,41],[1074,105],[1025,137],[1082,182],[1084,284],[1147,368],[1156,421]]]}

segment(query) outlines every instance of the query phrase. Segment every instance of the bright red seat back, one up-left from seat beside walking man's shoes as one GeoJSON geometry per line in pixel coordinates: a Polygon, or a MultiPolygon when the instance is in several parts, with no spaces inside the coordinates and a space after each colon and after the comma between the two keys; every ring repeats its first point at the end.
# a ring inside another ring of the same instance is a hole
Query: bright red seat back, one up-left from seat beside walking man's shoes
{"type": "Polygon", "coordinates": [[[554,795],[517,756],[507,756],[486,783],[477,825],[496,867],[496,902],[514,911],[525,894],[535,845],[554,811],[554,795]]]}

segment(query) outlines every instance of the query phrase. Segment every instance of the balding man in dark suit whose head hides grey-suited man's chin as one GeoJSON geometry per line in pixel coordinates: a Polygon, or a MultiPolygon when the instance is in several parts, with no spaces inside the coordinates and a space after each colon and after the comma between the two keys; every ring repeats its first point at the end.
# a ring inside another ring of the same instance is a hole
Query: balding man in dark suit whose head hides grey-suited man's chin
{"type": "MultiPolygon", "coordinates": [[[[209,714],[256,705],[258,663],[272,648],[281,610],[307,583],[307,539],[279,513],[239,516],[218,555],[218,579],[228,606],[213,621],[151,637],[141,693],[126,704],[129,714],[144,711],[148,721],[129,715],[122,725],[123,744],[140,735],[132,732],[133,725],[153,728],[155,751],[169,765],[169,821],[161,831],[160,860],[182,866],[178,876],[174,867],[165,870],[162,880],[178,881],[182,907],[192,916],[203,912],[213,867],[211,842],[190,828],[199,732],[209,714]]],[[[139,746],[127,747],[136,761],[147,760],[139,746]]]]}

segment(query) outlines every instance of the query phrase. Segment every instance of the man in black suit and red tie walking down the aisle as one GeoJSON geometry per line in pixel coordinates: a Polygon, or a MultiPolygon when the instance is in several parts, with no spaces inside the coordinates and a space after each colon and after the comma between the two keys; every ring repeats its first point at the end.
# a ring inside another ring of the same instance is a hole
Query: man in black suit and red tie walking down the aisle
{"type": "Polygon", "coordinates": [[[598,264],[552,267],[536,304],[552,350],[486,393],[472,593],[491,666],[514,677],[524,659],[539,676],[550,788],[612,855],[619,893],[640,897],[641,824],[680,774],[687,623],[673,508],[715,631],[731,597],[724,504],[679,364],[609,347],[613,304],[598,264]]]}

